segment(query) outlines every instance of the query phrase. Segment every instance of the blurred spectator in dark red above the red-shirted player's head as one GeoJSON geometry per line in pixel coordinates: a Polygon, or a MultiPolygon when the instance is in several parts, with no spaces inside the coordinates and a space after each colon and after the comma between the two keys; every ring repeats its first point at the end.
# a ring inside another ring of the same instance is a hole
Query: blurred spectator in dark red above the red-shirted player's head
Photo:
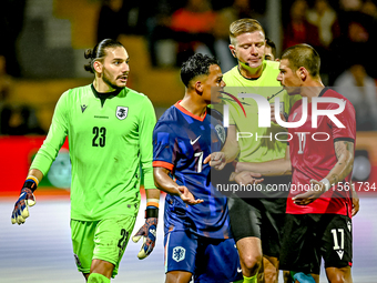
{"type": "Polygon", "coordinates": [[[307,43],[315,48],[320,46],[318,28],[306,19],[307,2],[296,0],[291,7],[291,19],[284,30],[283,49],[299,43],[307,43]]]}

